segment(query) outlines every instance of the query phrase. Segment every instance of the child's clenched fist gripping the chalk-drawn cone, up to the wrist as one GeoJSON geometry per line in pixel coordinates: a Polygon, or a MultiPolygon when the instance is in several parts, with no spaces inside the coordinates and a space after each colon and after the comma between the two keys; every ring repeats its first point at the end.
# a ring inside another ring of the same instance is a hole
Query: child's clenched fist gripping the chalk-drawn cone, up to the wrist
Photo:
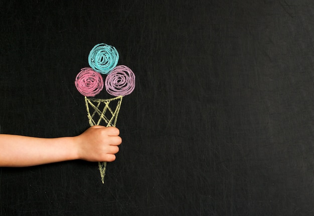
{"type": "Polygon", "coordinates": [[[92,126],[75,137],[78,159],[88,161],[115,160],[122,139],[116,127],[92,126]]]}

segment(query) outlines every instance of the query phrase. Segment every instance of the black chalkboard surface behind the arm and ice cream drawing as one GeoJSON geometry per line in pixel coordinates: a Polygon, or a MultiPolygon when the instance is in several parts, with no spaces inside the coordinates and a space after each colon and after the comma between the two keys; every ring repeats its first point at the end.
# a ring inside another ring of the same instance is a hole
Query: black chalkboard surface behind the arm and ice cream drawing
{"type": "Polygon", "coordinates": [[[96,44],[136,87],[104,184],[95,162],[0,168],[0,215],[312,215],[313,14],[302,0],[1,1],[1,133],[87,129],[74,80],[96,44]]]}

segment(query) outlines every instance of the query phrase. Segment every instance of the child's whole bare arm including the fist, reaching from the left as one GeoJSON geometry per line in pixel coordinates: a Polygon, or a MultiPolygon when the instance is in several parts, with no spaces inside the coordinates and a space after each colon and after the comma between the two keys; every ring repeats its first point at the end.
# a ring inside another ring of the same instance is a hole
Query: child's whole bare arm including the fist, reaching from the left
{"type": "Polygon", "coordinates": [[[74,137],[0,134],[0,166],[33,166],[65,160],[113,161],[122,140],[115,127],[92,126],[74,137]]]}

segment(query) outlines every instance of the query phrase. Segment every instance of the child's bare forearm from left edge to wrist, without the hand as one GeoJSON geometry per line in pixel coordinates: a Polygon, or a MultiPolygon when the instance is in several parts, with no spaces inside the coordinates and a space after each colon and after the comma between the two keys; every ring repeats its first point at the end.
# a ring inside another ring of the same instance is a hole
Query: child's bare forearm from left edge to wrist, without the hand
{"type": "Polygon", "coordinates": [[[78,159],[74,137],[37,138],[0,134],[0,166],[33,166],[78,159]]]}

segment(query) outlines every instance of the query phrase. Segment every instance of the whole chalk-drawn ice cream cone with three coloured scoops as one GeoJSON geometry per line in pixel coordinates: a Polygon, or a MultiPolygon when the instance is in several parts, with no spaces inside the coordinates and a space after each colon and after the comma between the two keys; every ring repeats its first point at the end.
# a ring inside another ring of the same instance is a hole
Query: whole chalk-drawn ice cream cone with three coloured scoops
{"type": "MultiPolygon", "coordinates": [[[[85,96],[85,106],[90,126],[115,127],[122,98],[135,88],[135,75],[124,65],[117,66],[117,50],[106,44],[97,44],[90,51],[88,63],[91,68],[83,68],[76,76],[75,86],[85,96]],[[100,74],[107,75],[105,82],[100,74]],[[105,89],[115,96],[111,99],[97,99],[95,95],[105,89]]],[[[98,162],[100,177],[104,183],[107,162],[98,162]]]]}

